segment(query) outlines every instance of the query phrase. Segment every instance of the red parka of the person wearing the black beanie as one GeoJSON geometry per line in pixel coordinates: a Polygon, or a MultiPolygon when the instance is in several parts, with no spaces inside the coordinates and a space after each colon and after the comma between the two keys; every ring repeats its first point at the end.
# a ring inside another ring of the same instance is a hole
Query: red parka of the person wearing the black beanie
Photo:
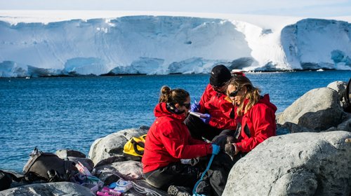
{"type": "Polygon", "coordinates": [[[237,128],[234,121],[234,106],[227,95],[216,92],[210,84],[207,85],[200,102],[201,113],[211,115],[208,125],[220,130],[235,130],[237,128]]]}

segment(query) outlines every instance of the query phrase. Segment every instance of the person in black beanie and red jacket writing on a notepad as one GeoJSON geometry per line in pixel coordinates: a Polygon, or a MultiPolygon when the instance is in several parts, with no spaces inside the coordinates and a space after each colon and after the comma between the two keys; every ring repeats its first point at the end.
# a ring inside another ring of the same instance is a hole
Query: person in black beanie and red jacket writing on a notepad
{"type": "Polygon", "coordinates": [[[188,116],[185,125],[194,139],[202,137],[212,141],[223,130],[235,130],[234,106],[226,94],[226,83],[232,74],[223,64],[213,67],[210,83],[199,103],[194,103],[190,111],[204,113],[205,117],[188,116]]]}

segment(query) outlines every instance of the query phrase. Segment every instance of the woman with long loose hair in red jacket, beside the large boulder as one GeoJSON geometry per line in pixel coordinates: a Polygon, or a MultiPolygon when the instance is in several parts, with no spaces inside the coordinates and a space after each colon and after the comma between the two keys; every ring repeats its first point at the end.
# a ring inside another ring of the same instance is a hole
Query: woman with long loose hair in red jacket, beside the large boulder
{"type": "Polygon", "coordinates": [[[234,156],[248,153],[265,139],[276,135],[275,111],[270,96],[260,96],[249,78],[234,76],[227,86],[227,95],[235,107],[237,131],[234,143],[225,144],[225,150],[234,156]]]}

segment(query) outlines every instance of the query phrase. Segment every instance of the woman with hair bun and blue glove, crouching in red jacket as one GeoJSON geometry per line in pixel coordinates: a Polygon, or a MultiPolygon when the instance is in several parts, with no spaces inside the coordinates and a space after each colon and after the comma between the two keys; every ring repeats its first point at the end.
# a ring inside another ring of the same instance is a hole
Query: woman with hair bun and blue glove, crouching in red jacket
{"type": "MultiPolygon", "coordinates": [[[[192,188],[203,169],[182,161],[218,154],[220,147],[190,137],[183,123],[190,109],[190,94],[183,89],[161,88],[156,120],[147,132],[142,158],[145,180],[151,186],[167,190],[170,186],[192,188]]],[[[169,191],[168,191],[169,193],[169,191]]],[[[175,194],[174,194],[175,195],[175,194]]]]}

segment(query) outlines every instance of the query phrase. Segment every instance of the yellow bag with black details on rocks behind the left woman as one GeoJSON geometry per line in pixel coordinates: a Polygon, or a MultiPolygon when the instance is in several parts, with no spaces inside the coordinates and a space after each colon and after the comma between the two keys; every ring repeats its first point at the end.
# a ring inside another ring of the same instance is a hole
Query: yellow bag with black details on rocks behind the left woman
{"type": "Polygon", "coordinates": [[[123,155],[128,160],[141,160],[144,154],[146,134],[140,137],[132,137],[123,148],[123,155]]]}

